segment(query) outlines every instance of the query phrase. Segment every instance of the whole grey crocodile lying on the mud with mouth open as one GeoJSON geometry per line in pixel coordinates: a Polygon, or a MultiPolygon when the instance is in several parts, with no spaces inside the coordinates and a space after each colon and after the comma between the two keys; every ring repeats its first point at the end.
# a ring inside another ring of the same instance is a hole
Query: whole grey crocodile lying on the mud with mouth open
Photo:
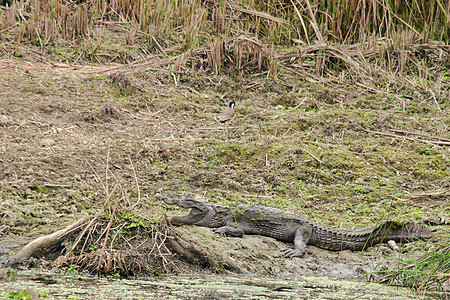
{"type": "Polygon", "coordinates": [[[394,240],[396,242],[429,239],[433,233],[420,224],[385,221],[359,230],[340,230],[315,223],[305,217],[280,209],[259,205],[227,207],[207,204],[191,198],[156,197],[169,205],[190,208],[185,216],[173,216],[173,225],[197,225],[215,228],[222,236],[242,237],[245,234],[263,235],[294,248],[283,249],[285,258],[302,257],[306,245],[340,251],[360,251],[370,246],[394,240]]]}

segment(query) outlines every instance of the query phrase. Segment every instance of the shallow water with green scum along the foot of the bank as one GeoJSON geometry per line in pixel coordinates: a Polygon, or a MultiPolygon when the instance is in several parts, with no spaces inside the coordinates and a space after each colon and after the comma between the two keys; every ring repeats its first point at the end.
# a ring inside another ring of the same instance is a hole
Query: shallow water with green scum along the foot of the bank
{"type": "Polygon", "coordinates": [[[423,297],[407,288],[357,280],[303,276],[189,274],[114,279],[32,269],[17,271],[0,281],[2,298],[22,291],[32,299],[430,299],[433,296],[423,297]]]}

